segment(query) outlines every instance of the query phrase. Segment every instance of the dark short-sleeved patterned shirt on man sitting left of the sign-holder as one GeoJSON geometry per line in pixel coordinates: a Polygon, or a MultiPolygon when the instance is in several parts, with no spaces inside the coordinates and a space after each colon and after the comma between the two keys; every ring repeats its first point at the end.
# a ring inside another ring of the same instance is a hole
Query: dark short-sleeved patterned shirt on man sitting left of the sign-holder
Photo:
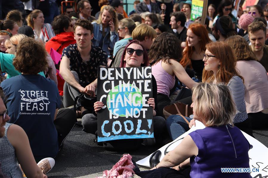
{"type": "Polygon", "coordinates": [[[97,78],[98,66],[107,66],[108,56],[98,46],[91,46],[90,59],[83,62],[77,48],[77,44],[69,45],[62,51],[61,57],[70,60],[70,70],[78,73],[79,84],[86,87],[97,78]]]}

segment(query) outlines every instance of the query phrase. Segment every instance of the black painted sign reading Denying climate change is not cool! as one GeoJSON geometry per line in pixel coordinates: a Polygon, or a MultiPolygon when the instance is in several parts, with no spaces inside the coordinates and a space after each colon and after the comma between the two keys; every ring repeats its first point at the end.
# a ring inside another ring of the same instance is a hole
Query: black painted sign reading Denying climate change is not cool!
{"type": "Polygon", "coordinates": [[[98,68],[98,142],[153,138],[151,67],[98,68]]]}

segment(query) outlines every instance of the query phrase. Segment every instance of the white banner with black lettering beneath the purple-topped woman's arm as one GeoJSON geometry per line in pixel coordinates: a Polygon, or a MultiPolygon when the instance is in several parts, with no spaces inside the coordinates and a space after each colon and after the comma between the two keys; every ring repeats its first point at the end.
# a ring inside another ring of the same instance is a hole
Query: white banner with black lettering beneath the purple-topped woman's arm
{"type": "MultiPolygon", "coordinates": [[[[191,127],[190,130],[188,130],[187,132],[185,132],[184,134],[176,138],[174,141],[158,149],[161,151],[160,160],[163,159],[163,157],[165,156],[165,153],[170,152],[171,150],[175,149],[181,143],[182,139],[185,136],[187,136],[189,133],[197,129],[205,128],[202,122],[199,122],[198,120],[196,120],[195,122],[196,122],[196,126],[191,127]]],[[[250,145],[252,145],[252,148],[249,150],[248,155],[250,158],[250,169],[254,171],[252,171],[250,175],[252,176],[252,178],[268,177],[268,159],[267,159],[268,148],[265,147],[261,142],[259,142],[252,136],[248,135],[247,133],[244,133],[243,131],[241,132],[247,138],[250,145]]],[[[145,157],[142,160],[137,161],[136,163],[141,166],[150,167],[149,160],[150,160],[151,155],[145,157]]]]}

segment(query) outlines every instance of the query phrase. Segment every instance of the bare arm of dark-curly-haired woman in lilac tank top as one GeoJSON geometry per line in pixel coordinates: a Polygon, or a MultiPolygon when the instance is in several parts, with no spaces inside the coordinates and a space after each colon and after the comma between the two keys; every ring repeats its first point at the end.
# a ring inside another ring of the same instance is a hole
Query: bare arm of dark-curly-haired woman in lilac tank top
{"type": "Polygon", "coordinates": [[[191,89],[194,85],[198,84],[189,77],[189,75],[186,73],[186,71],[179,62],[175,61],[174,59],[171,59],[170,61],[172,64],[169,65],[173,73],[176,75],[179,81],[185,84],[185,86],[191,89]]]}

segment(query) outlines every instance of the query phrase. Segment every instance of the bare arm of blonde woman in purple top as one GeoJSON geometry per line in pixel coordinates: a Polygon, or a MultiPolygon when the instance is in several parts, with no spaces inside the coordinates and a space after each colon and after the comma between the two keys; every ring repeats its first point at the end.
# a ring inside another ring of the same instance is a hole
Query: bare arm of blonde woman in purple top
{"type": "Polygon", "coordinates": [[[196,155],[198,155],[198,148],[193,139],[187,135],[175,149],[165,155],[165,157],[160,161],[156,168],[171,168],[178,166],[189,157],[196,155]]]}

